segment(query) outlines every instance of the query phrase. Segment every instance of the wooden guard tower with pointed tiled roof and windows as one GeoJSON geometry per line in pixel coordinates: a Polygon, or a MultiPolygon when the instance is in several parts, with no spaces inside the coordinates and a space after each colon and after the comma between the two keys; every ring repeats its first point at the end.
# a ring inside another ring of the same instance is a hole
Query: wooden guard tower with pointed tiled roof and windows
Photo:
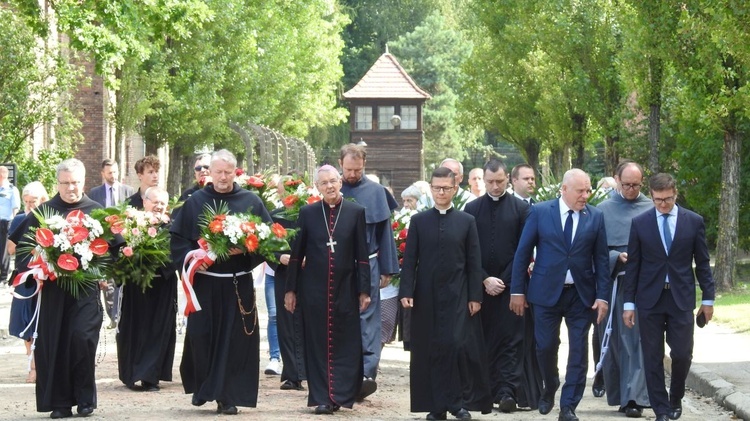
{"type": "Polygon", "coordinates": [[[349,139],[367,144],[366,173],[391,186],[396,199],[424,168],[422,106],[431,98],[388,52],[344,94],[349,101],[349,139]]]}

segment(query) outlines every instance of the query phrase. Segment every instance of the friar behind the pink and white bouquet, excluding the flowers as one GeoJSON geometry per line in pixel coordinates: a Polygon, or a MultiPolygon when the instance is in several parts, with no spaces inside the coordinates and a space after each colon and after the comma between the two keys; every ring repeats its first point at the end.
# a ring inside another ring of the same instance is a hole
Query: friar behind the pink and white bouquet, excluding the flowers
{"type": "MultiPolygon", "coordinates": [[[[150,187],[145,191],[142,209],[163,214],[168,203],[169,194],[164,189],[150,187]]],[[[122,307],[116,336],[120,381],[132,390],[158,391],[160,380],[172,381],[177,341],[175,266],[168,264],[159,269],[145,291],[140,285],[126,283],[120,297],[122,307]],[[135,384],[138,381],[140,387],[135,384]]]]}

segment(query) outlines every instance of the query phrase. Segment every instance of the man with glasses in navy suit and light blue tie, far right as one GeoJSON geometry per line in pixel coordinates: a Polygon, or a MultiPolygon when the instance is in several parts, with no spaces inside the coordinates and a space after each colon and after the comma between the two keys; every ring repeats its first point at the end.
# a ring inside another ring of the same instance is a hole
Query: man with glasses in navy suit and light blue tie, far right
{"type": "Polygon", "coordinates": [[[704,315],[706,323],[713,317],[715,291],[703,218],[675,205],[677,188],[670,174],[652,176],[649,187],[656,210],[636,216],[630,227],[622,319],[632,328],[638,306],[648,398],[657,421],[666,421],[682,415],[693,359],[695,278],[703,291],[698,316],[704,315]],[[665,333],[672,358],[669,395],[664,381],[665,333]]]}

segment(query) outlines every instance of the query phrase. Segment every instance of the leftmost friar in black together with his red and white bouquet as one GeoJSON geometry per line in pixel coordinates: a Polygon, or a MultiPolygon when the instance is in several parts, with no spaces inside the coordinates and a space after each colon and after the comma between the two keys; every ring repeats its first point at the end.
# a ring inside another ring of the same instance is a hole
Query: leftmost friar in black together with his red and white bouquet
{"type": "Polygon", "coordinates": [[[52,411],[51,418],[72,416],[74,405],[81,416],[90,415],[96,408],[94,367],[103,317],[97,290],[100,283],[96,280],[101,279],[101,267],[97,261],[106,258],[109,246],[99,237],[92,239],[101,234],[102,227],[87,215],[101,205],[83,194],[85,179],[86,168],[81,161],[62,161],[57,166],[58,194],[11,233],[19,252],[36,247],[29,266],[34,260],[42,261],[46,271],[44,277],[37,278],[46,280],[39,299],[34,357],[37,411],[52,411]],[[44,262],[53,252],[59,258],[44,262]]]}

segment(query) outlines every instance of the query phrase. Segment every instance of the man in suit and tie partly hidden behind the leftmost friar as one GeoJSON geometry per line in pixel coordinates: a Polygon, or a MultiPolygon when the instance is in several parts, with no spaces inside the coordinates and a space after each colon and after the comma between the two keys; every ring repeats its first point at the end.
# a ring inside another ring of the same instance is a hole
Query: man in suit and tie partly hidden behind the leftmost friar
{"type": "MultiPolygon", "coordinates": [[[[101,185],[96,186],[89,192],[89,199],[106,207],[118,205],[132,194],[135,189],[120,183],[118,179],[119,171],[117,162],[111,159],[102,161],[102,180],[101,185]]],[[[114,282],[107,280],[107,289],[104,290],[104,303],[107,307],[109,324],[107,329],[112,329],[117,325],[117,300],[120,295],[120,288],[115,287],[114,282]]]]}

